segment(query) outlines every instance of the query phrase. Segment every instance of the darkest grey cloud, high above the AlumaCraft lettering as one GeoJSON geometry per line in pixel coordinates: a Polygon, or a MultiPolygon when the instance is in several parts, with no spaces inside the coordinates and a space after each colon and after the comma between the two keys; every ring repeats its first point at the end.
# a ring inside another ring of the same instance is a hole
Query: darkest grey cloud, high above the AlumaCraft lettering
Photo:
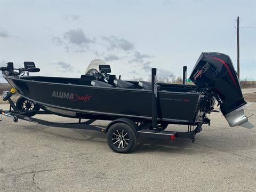
{"type": "Polygon", "coordinates": [[[90,45],[95,43],[95,39],[87,37],[81,28],[70,29],[63,34],[63,38],[54,36],[52,41],[59,46],[65,47],[67,52],[78,53],[90,51],[90,45]]]}

